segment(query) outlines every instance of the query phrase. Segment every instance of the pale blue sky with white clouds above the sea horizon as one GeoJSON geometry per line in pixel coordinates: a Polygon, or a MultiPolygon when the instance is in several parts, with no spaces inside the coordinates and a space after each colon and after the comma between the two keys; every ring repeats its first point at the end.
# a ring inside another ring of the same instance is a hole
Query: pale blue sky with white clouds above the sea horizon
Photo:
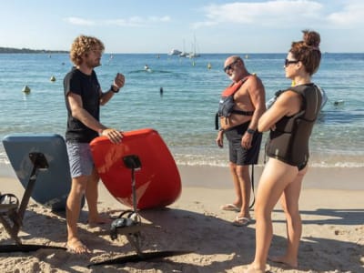
{"type": "Polygon", "coordinates": [[[109,53],[285,53],[301,30],[323,52],[364,52],[362,0],[8,0],[0,46],[68,50],[94,35],[109,53]]]}

